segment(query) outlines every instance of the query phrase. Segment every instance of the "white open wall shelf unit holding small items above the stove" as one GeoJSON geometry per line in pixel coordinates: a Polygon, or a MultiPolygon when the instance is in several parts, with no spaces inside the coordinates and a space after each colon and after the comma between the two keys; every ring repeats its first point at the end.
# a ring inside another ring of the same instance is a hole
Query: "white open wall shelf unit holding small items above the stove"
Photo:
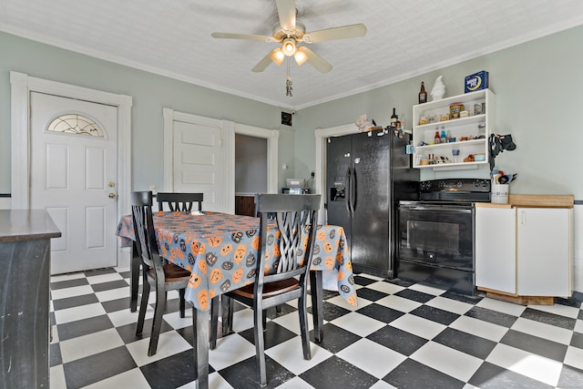
{"type": "Polygon", "coordinates": [[[413,145],[414,168],[419,169],[468,169],[477,168],[488,163],[488,137],[494,133],[496,118],[496,95],[489,89],[478,90],[454,97],[447,97],[413,107],[413,145]],[[450,106],[461,104],[469,112],[467,118],[450,118],[441,121],[442,115],[449,115],[450,106]],[[476,110],[481,113],[475,115],[476,110]],[[428,124],[420,124],[420,119],[435,118],[428,124]],[[449,132],[452,139],[445,143],[435,144],[435,132],[449,132]],[[462,140],[464,138],[465,140],[462,140]],[[453,150],[459,150],[459,155],[453,155],[453,150]],[[429,156],[433,155],[440,163],[431,163],[429,156]],[[484,160],[464,162],[468,156],[484,156],[484,160]],[[424,165],[422,161],[428,163],[424,165]]]}

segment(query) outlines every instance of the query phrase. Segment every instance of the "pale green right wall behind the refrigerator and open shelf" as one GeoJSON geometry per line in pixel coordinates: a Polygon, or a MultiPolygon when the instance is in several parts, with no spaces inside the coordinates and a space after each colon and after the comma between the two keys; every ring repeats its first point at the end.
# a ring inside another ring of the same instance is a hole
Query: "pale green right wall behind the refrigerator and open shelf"
{"type": "MultiPolygon", "coordinates": [[[[583,146],[583,27],[569,29],[387,87],[304,108],[294,117],[296,174],[310,177],[315,166],[314,129],[353,123],[366,114],[386,126],[396,107],[411,128],[412,106],[421,81],[428,91],[443,76],[445,97],[464,93],[464,77],[487,70],[496,93],[496,133],[512,134],[517,149],[496,158],[496,168],[519,173],[510,193],[574,194],[583,200],[580,149],[583,146]]],[[[423,64],[426,66],[427,64],[423,64]]],[[[430,97],[431,99],[431,97],[430,97]]],[[[484,177],[488,169],[434,173],[422,179],[484,177]],[[477,176],[479,175],[479,176],[477,176]]]]}

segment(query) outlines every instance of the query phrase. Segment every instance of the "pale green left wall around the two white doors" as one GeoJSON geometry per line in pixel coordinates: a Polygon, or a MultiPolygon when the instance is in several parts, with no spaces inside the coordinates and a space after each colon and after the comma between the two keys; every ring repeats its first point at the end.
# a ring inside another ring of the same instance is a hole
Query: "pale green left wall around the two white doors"
{"type": "MultiPolygon", "coordinates": [[[[132,189],[163,188],[162,108],[260,128],[281,128],[281,110],[251,99],[197,87],[0,32],[0,194],[10,193],[10,71],[133,97],[132,189]]],[[[294,133],[280,134],[292,162],[294,133]]],[[[281,166],[280,166],[281,169],[281,166]]],[[[280,172],[281,185],[285,174],[280,172]]]]}

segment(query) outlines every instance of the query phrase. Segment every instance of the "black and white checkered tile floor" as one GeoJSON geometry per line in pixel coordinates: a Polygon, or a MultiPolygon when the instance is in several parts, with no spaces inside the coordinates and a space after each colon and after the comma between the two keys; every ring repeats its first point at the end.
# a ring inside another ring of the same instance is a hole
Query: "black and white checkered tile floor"
{"type": "MultiPolygon", "coordinates": [[[[169,293],[158,353],[148,357],[151,319],[138,339],[128,277],[127,269],[52,277],[52,389],[194,387],[190,310],[180,319],[178,294],[169,293]]],[[[296,309],[270,312],[269,387],[583,387],[577,301],[522,306],[367,275],[356,282],[358,307],[324,293],[324,342],[311,344],[311,361],[302,358],[296,309]]],[[[257,387],[251,311],[235,312],[233,325],[210,352],[211,388],[257,387]]]]}

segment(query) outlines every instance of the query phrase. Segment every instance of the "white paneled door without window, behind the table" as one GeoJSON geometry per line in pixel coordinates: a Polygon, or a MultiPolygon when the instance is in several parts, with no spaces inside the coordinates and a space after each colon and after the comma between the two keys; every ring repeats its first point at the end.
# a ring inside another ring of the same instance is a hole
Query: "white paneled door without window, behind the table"
{"type": "Polygon", "coordinates": [[[173,191],[202,192],[202,210],[224,211],[220,120],[174,120],[173,132],[173,191]]]}

